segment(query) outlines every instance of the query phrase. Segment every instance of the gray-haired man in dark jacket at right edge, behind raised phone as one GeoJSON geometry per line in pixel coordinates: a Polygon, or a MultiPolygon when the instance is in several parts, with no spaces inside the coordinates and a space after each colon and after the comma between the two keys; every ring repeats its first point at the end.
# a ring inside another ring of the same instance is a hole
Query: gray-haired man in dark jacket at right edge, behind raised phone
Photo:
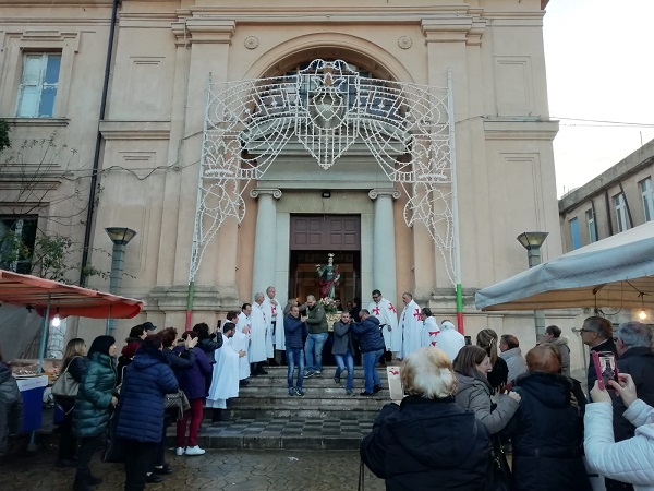
{"type": "MultiPolygon", "coordinates": [[[[618,350],[618,370],[629,373],[635,384],[638,398],[654,406],[654,352],[652,352],[652,327],[640,322],[623,322],[614,332],[618,350]]],[[[616,442],[634,435],[635,427],[622,414],[627,406],[622,399],[611,394],[614,406],[614,435],[616,442]]],[[[607,491],[631,490],[631,484],[606,479],[607,491]]]]}

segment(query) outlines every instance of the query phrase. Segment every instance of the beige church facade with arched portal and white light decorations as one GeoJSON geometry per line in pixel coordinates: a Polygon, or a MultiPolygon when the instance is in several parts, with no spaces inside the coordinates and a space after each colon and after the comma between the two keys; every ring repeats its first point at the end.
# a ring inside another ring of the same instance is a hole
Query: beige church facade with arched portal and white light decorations
{"type": "Polygon", "coordinates": [[[317,294],[332,253],[343,303],[410,291],[455,319],[460,284],[467,334],[531,344],[529,313],[477,312],[473,292],[526,267],[523,231],[561,253],[546,1],[0,3],[0,117],[76,148],[39,224],[87,236],[102,270],[105,228],[135,230],[121,295],[148,321],[181,328],[190,297],[213,323],[269,285],[317,294]]]}

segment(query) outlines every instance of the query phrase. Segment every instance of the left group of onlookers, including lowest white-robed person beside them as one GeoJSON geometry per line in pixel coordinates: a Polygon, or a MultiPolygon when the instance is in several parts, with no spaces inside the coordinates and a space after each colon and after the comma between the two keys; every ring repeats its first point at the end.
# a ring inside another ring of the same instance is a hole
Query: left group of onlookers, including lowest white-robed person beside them
{"type": "MultiPolygon", "coordinates": [[[[240,360],[249,344],[237,336],[239,312],[229,312],[221,332],[206,323],[179,336],[146,322],[134,326],[120,349],[112,336],[68,343],[60,376],[77,384],[74,396],[57,396],[59,422],[57,467],[76,468],[73,489],[88,491],[102,480],[92,460],[100,450],[124,460],[125,490],[143,490],[172,472],[166,463],[166,432],[177,426],[177,455],[203,455],[198,429],[206,407],[222,419],[227,398],[238,396],[240,360]],[[226,392],[227,391],[227,392],[226,392]],[[110,451],[111,447],[111,451],[110,451]],[[118,448],[118,451],[117,451],[118,448]]],[[[246,364],[247,369],[250,368],[246,364]]],[[[11,369],[0,359],[0,453],[8,434],[20,428],[21,394],[11,369]],[[4,404],[7,402],[7,404],[4,404]],[[11,404],[9,404],[11,402],[11,404]]],[[[107,456],[105,455],[105,456],[107,456]]]]}

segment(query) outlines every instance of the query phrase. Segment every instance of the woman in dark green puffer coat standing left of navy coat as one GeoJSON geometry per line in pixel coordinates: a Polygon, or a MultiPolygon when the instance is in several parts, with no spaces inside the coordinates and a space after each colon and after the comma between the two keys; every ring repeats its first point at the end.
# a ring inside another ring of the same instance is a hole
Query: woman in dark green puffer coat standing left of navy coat
{"type": "Polygon", "coordinates": [[[101,479],[88,467],[93,454],[104,442],[111,411],[118,404],[116,391],[116,339],[98,336],[88,350],[88,368],[82,376],[73,408],[73,433],[80,439],[75,491],[87,491],[101,479]]]}

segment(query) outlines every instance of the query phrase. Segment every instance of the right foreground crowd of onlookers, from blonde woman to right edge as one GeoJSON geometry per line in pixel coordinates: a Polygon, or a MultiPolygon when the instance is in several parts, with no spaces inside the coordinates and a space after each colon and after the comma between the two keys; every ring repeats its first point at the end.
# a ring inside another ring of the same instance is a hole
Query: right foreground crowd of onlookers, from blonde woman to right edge
{"type": "Polygon", "coordinates": [[[558,326],[524,357],[516,336],[498,344],[493,330],[453,358],[432,346],[410,354],[401,366],[405,396],[378,415],[363,460],[387,490],[583,491],[597,489],[592,476],[604,477],[608,491],[654,489],[652,327],[627,322],[614,332],[592,316],[580,332],[589,366],[593,351],[611,351],[619,373],[603,386],[589,370],[588,399],[569,375],[558,326]]]}

